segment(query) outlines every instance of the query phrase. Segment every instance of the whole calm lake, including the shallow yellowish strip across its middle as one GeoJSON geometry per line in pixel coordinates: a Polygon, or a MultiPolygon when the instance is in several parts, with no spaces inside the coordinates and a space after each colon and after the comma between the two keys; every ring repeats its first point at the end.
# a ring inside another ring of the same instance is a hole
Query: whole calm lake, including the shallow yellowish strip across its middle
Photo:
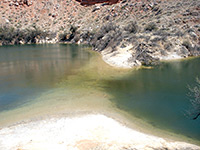
{"type": "Polygon", "coordinates": [[[200,141],[191,120],[188,85],[200,58],[153,68],[114,69],[87,46],[0,47],[0,126],[55,112],[117,107],[152,126],[200,141]]]}

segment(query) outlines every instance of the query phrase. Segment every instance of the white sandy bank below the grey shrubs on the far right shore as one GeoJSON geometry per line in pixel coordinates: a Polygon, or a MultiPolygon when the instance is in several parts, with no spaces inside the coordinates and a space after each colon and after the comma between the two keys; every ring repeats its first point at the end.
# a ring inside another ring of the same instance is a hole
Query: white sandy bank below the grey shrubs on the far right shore
{"type": "Polygon", "coordinates": [[[149,65],[154,66],[154,65],[162,63],[162,62],[180,61],[180,60],[182,61],[182,60],[200,57],[199,55],[183,57],[181,55],[178,55],[177,53],[169,53],[166,56],[162,56],[162,55],[153,56],[152,55],[151,56],[152,59],[155,59],[155,60],[153,60],[149,64],[148,63],[143,64],[142,62],[135,59],[135,56],[132,54],[131,48],[132,48],[131,46],[127,46],[125,48],[118,48],[114,52],[108,48],[100,53],[101,58],[106,64],[108,64],[114,68],[133,69],[133,68],[149,66],[149,65]]]}

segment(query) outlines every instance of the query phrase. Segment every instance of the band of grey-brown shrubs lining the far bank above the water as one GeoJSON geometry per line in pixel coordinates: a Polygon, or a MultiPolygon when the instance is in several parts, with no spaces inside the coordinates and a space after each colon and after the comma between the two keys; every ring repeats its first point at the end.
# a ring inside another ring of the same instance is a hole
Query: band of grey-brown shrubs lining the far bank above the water
{"type": "Polygon", "coordinates": [[[198,56],[200,47],[193,30],[166,30],[158,23],[150,22],[141,26],[133,18],[125,23],[107,22],[97,29],[86,30],[74,24],[55,33],[43,31],[38,27],[14,29],[8,26],[0,27],[0,44],[31,44],[48,43],[49,39],[55,42],[70,42],[89,44],[96,51],[111,49],[118,51],[132,46],[131,62],[140,62],[143,65],[152,65],[159,62],[159,58],[168,57],[175,53],[179,57],[198,56]],[[176,32],[175,32],[176,31],[176,32]]]}

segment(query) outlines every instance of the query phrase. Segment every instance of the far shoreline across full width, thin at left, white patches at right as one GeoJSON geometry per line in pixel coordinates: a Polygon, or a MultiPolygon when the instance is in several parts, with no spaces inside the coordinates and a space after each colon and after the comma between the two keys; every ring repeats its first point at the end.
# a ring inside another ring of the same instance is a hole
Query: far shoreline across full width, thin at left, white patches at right
{"type": "MultiPolygon", "coordinates": [[[[49,44],[58,44],[58,45],[68,45],[68,44],[75,44],[75,45],[79,45],[79,46],[87,46],[87,47],[91,47],[91,50],[89,50],[91,53],[97,53],[100,55],[101,59],[103,60],[103,62],[105,64],[107,64],[109,67],[112,67],[114,69],[123,69],[123,70],[131,70],[131,69],[139,69],[140,67],[145,67],[145,68],[151,68],[154,65],[156,65],[157,63],[151,65],[143,65],[141,62],[137,61],[136,62],[131,62],[129,63],[129,59],[132,59],[133,56],[131,56],[131,53],[128,52],[127,50],[123,51],[123,50],[118,50],[116,51],[116,55],[112,53],[110,53],[110,50],[104,50],[102,52],[98,52],[96,50],[93,49],[93,47],[89,44],[84,44],[84,43],[73,43],[73,42],[39,42],[39,43],[26,43],[26,44],[20,44],[21,45],[49,45],[49,44]],[[118,56],[120,55],[120,56],[118,56]],[[122,59],[123,61],[120,61],[120,59],[122,59]]],[[[1,46],[19,46],[19,45],[15,45],[15,44],[10,44],[10,45],[0,45],[1,46]]],[[[125,48],[127,49],[127,47],[125,48]]],[[[115,53],[115,52],[114,52],[115,53]]],[[[187,57],[181,57],[179,55],[176,54],[176,56],[174,54],[166,56],[166,57],[158,57],[160,60],[158,61],[159,63],[162,62],[171,62],[171,61],[184,61],[184,60],[188,60],[188,59],[194,59],[194,58],[199,58],[200,56],[187,56],[187,57]]],[[[156,58],[157,59],[157,58],[156,58]]]]}

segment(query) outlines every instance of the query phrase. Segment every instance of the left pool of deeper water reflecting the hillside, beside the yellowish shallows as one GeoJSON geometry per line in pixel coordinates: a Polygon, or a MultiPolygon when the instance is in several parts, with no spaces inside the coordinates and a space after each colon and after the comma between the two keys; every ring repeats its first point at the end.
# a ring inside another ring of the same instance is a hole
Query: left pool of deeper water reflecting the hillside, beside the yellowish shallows
{"type": "Polygon", "coordinates": [[[0,111],[24,104],[88,62],[76,45],[0,47],[0,111]]]}

